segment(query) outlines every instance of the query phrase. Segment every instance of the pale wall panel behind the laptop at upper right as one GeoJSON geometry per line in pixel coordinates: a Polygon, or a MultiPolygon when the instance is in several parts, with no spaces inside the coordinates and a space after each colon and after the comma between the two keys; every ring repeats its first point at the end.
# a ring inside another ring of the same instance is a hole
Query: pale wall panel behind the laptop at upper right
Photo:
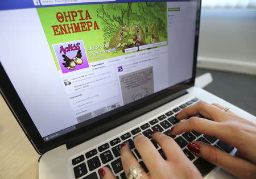
{"type": "Polygon", "coordinates": [[[198,67],[256,74],[256,9],[202,10],[198,67]]]}

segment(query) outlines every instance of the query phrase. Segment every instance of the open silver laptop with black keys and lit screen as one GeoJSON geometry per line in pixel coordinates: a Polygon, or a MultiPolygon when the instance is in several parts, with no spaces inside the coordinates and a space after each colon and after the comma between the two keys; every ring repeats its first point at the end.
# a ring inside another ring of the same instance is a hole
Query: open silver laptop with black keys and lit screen
{"type": "MultiPolygon", "coordinates": [[[[195,131],[169,134],[200,100],[255,116],[197,88],[200,1],[1,1],[1,94],[39,159],[39,178],[125,178],[120,144],[151,131],[174,138],[205,178],[233,177],[187,148],[195,131]]],[[[204,116],[201,116],[204,117],[204,116]]],[[[151,139],[164,158],[160,146],[151,139]]],[[[182,171],[180,171],[182,172],[182,171]]]]}

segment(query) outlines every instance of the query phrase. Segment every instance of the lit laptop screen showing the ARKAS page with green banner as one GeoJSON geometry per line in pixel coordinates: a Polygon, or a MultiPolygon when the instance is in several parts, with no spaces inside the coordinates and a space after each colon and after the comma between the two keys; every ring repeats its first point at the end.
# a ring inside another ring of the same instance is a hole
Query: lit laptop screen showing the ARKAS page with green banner
{"type": "Polygon", "coordinates": [[[45,141],[192,78],[196,1],[1,5],[1,64],[45,141]]]}

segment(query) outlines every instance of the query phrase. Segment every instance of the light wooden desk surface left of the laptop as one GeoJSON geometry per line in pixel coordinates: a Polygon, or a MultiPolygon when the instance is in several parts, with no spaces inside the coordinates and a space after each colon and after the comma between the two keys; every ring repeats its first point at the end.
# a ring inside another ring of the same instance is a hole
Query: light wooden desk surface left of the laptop
{"type": "Polygon", "coordinates": [[[39,154],[0,95],[0,178],[38,178],[39,154]]]}

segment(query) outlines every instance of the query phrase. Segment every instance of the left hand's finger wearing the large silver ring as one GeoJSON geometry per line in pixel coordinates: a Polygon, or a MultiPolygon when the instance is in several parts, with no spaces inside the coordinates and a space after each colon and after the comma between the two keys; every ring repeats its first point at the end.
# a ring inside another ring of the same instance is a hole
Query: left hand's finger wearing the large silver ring
{"type": "Polygon", "coordinates": [[[131,149],[127,143],[122,143],[121,145],[121,160],[122,160],[123,170],[125,170],[126,174],[129,168],[135,166],[135,167],[141,168],[143,179],[148,178],[147,173],[142,169],[142,166],[134,158],[133,153],[131,153],[131,149]]]}

